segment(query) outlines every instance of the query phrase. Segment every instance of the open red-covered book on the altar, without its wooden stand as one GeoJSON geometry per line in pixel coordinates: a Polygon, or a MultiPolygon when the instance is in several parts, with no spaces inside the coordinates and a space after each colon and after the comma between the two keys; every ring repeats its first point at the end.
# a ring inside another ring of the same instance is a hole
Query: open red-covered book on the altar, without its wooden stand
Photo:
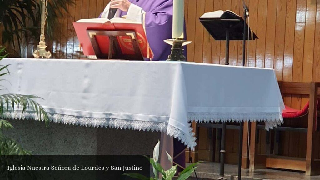
{"type": "MultiPolygon", "coordinates": [[[[88,35],[87,30],[125,30],[135,31],[137,40],[139,42],[140,50],[143,57],[153,58],[153,53],[148,44],[147,36],[143,28],[142,23],[127,20],[124,18],[113,18],[111,20],[105,18],[97,19],[81,19],[73,22],[73,26],[76,30],[81,47],[83,48],[84,55],[96,55],[92,44],[91,37],[88,35]]],[[[102,54],[109,53],[109,37],[108,36],[95,36],[98,46],[102,54]]],[[[122,54],[133,55],[135,54],[133,44],[130,36],[119,36],[117,37],[118,45],[122,54]]]]}

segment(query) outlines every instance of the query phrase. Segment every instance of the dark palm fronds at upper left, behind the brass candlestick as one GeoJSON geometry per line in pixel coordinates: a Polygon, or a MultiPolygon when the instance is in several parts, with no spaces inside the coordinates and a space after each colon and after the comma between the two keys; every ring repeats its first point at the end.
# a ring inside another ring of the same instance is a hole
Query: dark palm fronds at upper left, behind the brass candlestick
{"type": "MultiPolygon", "coordinates": [[[[48,2],[47,34],[53,37],[59,18],[68,15],[68,6],[75,0],[48,2]]],[[[0,0],[0,24],[4,26],[2,44],[11,46],[28,44],[30,39],[38,40],[41,25],[41,1],[39,0],[0,0]],[[26,43],[22,43],[25,42],[26,43]],[[17,43],[16,45],[14,43],[17,43]]],[[[13,48],[14,49],[14,48],[13,48]]]]}

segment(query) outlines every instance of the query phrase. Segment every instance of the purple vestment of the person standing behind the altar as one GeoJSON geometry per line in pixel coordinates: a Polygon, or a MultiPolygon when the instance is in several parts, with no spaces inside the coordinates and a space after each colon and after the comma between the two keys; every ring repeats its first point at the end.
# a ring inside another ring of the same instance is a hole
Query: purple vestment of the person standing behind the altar
{"type": "MultiPolygon", "coordinates": [[[[140,6],[145,12],[145,27],[149,45],[154,53],[153,61],[166,60],[171,53],[171,46],[164,42],[172,39],[173,0],[129,0],[140,6]]],[[[120,11],[120,17],[127,12],[120,11]]],[[[184,29],[186,29],[184,27],[184,29]]],[[[185,30],[186,32],[186,30],[185,30]]],[[[185,33],[186,37],[186,33],[185,33]]],[[[185,38],[186,39],[186,38],[185,38]]],[[[186,46],[184,47],[186,48],[186,46]]],[[[187,51],[184,54],[187,55],[187,51]]]]}

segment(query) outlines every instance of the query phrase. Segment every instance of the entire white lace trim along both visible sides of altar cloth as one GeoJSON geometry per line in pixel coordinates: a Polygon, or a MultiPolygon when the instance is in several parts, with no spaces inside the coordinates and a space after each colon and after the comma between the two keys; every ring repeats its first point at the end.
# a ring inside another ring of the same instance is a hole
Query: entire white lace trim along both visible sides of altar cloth
{"type": "MultiPolygon", "coordinates": [[[[71,116],[57,113],[48,113],[50,121],[55,123],[80,125],[86,127],[110,127],[117,129],[132,129],[143,131],[161,131],[166,132],[168,135],[178,138],[188,148],[192,149],[196,146],[195,133],[192,132],[193,128],[191,123],[188,123],[188,133],[181,131],[179,128],[174,127],[166,122],[153,122],[153,121],[140,121],[140,120],[127,120],[127,119],[110,119],[110,118],[90,118],[71,116]]],[[[2,118],[11,119],[34,119],[39,120],[36,113],[14,111],[4,113],[2,118]]],[[[282,113],[188,113],[188,121],[196,122],[220,122],[220,121],[266,121],[265,129],[273,129],[283,123],[282,113]]]]}

